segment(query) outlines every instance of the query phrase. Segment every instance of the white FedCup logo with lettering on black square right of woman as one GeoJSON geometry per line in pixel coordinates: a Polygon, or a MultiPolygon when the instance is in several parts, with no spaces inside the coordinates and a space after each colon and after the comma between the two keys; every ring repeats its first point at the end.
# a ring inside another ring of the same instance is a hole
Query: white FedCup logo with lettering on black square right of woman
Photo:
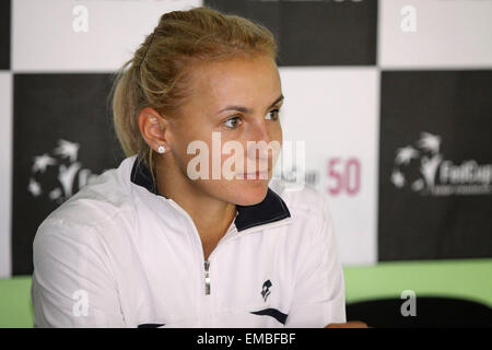
{"type": "Polygon", "coordinates": [[[390,182],[420,195],[490,195],[492,164],[467,160],[455,164],[441,152],[441,137],[421,132],[412,145],[396,151],[390,182]]]}

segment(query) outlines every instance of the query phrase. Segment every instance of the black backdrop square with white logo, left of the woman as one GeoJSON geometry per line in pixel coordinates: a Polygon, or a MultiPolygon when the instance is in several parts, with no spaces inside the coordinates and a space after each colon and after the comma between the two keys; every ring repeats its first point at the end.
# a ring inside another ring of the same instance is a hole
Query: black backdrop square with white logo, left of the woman
{"type": "Polygon", "coordinates": [[[14,74],[13,275],[32,273],[42,221],[122,160],[107,113],[110,83],[109,74],[14,74]]]}

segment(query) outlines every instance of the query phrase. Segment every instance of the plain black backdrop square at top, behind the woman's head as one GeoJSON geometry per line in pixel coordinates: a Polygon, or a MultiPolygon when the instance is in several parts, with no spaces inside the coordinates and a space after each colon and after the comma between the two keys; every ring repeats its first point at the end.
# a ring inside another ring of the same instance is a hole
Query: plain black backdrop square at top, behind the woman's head
{"type": "Polygon", "coordinates": [[[376,63],[377,1],[230,1],[204,4],[267,26],[279,66],[376,63]]]}

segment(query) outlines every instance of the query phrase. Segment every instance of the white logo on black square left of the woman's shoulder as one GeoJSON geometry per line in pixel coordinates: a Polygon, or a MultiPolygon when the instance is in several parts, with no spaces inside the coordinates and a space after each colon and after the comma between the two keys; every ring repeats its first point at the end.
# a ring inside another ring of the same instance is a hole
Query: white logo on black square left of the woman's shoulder
{"type": "Polygon", "coordinates": [[[58,147],[48,153],[33,156],[27,190],[35,198],[47,196],[57,205],[70,198],[77,190],[97,175],[82,168],[78,161],[80,144],[58,140],[58,147]],[[54,183],[55,177],[55,186],[54,183]],[[75,182],[78,188],[74,188],[75,182]]]}

